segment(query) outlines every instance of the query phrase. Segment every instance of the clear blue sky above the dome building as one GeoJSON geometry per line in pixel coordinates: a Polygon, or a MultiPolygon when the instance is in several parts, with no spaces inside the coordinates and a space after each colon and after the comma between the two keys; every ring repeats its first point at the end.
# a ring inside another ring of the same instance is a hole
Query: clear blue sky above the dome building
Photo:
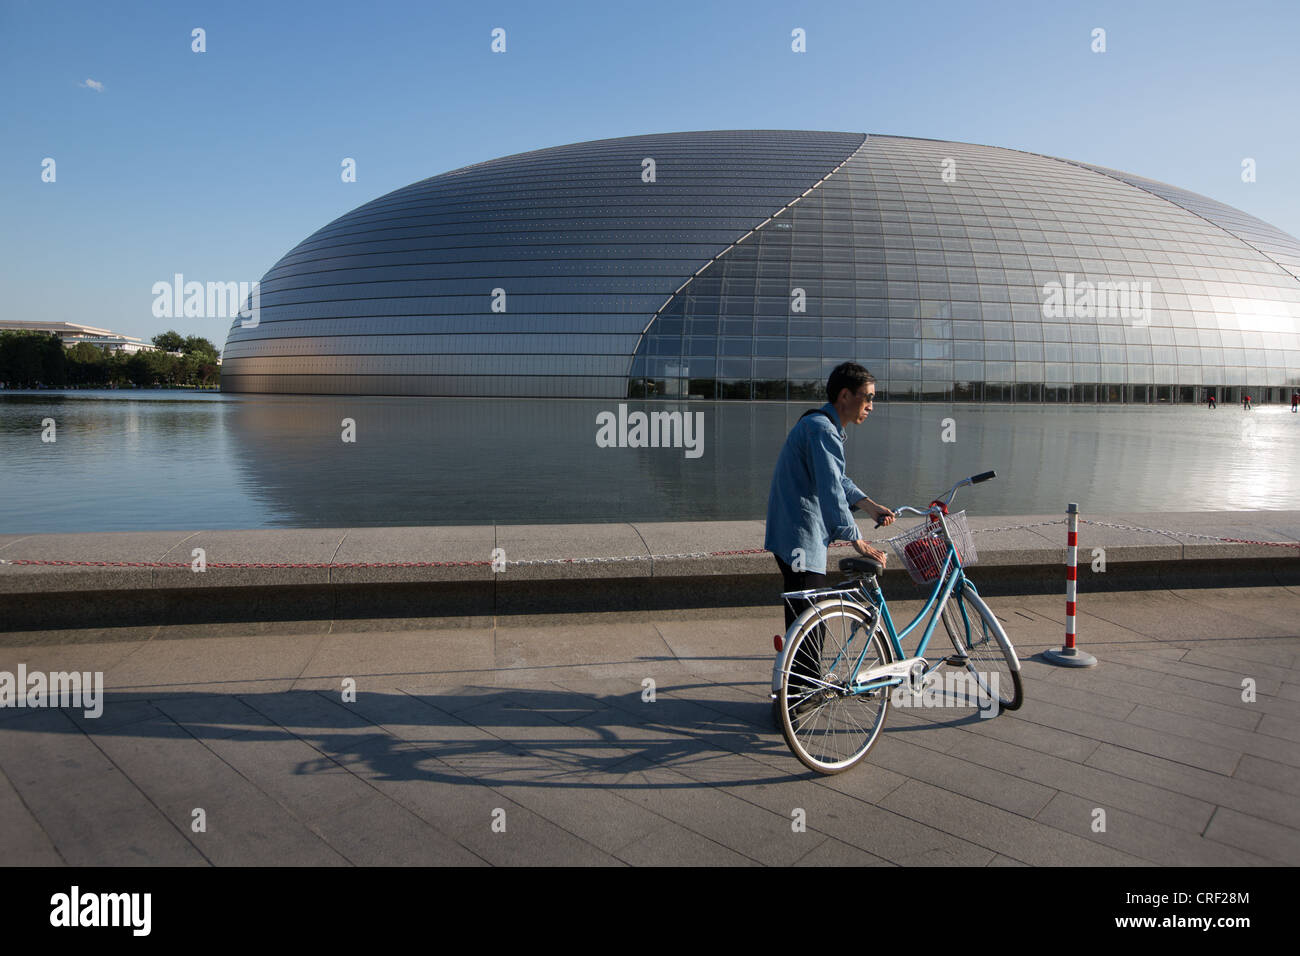
{"type": "Polygon", "coordinates": [[[146,339],[177,328],[220,347],[226,321],[155,319],[153,282],[257,280],[309,233],[417,179],[675,130],[1030,150],[1300,235],[1297,27],[1294,0],[0,0],[0,316],[146,339]],[[806,53],[790,51],[794,27],[806,53]],[[55,183],[40,179],[47,156],[55,183]],[[344,156],[355,183],[339,178],[344,156]]]}

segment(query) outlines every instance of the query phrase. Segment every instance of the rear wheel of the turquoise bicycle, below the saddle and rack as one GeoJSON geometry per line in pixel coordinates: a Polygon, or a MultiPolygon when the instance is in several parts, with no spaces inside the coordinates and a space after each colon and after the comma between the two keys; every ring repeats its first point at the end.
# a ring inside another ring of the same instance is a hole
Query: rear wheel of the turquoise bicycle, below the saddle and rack
{"type": "Polygon", "coordinates": [[[803,766],[837,774],[867,756],[884,727],[889,689],[849,687],[858,670],[889,661],[875,617],[858,605],[826,601],[807,617],[783,661],[777,695],[781,734],[803,766]]]}

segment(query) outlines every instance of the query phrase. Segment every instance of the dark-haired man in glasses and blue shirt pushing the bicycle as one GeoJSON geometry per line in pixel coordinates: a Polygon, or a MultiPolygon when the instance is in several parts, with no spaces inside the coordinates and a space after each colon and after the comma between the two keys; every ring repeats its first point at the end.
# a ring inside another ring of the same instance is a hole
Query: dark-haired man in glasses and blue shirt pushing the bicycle
{"type": "MultiPolygon", "coordinates": [[[[862,365],[836,365],[826,384],[827,403],[806,412],[790,429],[776,459],[767,497],[767,536],[763,548],[776,557],[784,591],[826,585],[827,548],[852,541],[858,554],[885,563],[885,553],[862,540],[853,511],[880,524],[894,514],[866,496],[848,476],[844,459],[846,425],[867,420],[876,395],[876,380],[862,365]]],[[[785,627],[798,617],[789,602],[785,627]]]]}

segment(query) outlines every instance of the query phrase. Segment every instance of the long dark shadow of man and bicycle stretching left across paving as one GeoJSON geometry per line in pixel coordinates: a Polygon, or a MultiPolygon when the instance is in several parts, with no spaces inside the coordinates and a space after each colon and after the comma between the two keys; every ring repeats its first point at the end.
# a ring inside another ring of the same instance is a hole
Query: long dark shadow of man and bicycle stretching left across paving
{"type": "MultiPolygon", "coordinates": [[[[283,774],[344,769],[374,782],[689,790],[805,777],[772,726],[770,701],[754,695],[753,684],[718,696],[731,687],[660,685],[653,698],[526,687],[387,689],[359,691],[352,701],[338,691],[306,689],[105,692],[98,718],[75,706],[0,709],[0,736],[156,739],[160,750],[162,741],[166,748],[196,741],[235,770],[246,762],[265,767],[270,756],[285,760],[283,774]],[[302,752],[290,748],[286,760],[282,745],[292,741],[302,752]]],[[[3,743],[6,773],[58,773],[48,758],[57,741],[3,743]]]]}

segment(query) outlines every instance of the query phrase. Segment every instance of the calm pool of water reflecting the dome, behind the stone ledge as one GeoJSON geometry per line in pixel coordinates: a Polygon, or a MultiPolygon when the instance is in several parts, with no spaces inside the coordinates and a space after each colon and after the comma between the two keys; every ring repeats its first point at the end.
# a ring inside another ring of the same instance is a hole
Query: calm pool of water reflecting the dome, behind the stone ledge
{"type": "MultiPolygon", "coordinates": [[[[599,447],[597,416],[616,401],[0,392],[0,532],[760,519],[781,442],[811,407],[625,405],[702,412],[702,454],[599,447]]],[[[1300,507],[1287,406],[898,403],[848,431],[850,476],[888,506],[993,468],[959,506],[1300,507]]]]}

